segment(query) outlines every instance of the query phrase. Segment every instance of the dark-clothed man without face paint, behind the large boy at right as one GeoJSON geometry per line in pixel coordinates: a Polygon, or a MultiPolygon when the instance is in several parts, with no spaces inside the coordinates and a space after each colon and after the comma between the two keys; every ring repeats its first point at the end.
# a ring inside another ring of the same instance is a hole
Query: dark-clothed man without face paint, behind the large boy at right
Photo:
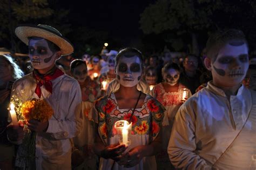
{"type": "Polygon", "coordinates": [[[198,69],[198,57],[188,55],[183,61],[184,71],[180,74],[180,83],[188,87],[192,94],[200,85],[201,73],[198,69]]]}

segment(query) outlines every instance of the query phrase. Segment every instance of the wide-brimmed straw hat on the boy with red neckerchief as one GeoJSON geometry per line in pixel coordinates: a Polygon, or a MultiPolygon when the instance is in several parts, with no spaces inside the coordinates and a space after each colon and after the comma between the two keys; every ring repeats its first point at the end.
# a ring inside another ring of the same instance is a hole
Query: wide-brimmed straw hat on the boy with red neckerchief
{"type": "Polygon", "coordinates": [[[21,25],[15,29],[15,34],[26,45],[29,44],[29,37],[42,37],[47,39],[60,48],[63,56],[70,55],[74,51],[73,45],[69,40],[64,38],[58,30],[49,25],[21,25]]]}

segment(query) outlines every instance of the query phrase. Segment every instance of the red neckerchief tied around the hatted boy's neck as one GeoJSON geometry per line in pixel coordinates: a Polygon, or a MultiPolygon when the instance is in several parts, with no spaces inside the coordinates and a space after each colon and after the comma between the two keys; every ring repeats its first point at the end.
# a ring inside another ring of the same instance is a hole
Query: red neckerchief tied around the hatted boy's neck
{"type": "Polygon", "coordinates": [[[59,70],[57,67],[53,67],[46,74],[40,74],[37,70],[33,70],[33,77],[37,80],[37,85],[35,93],[39,98],[41,98],[41,86],[44,85],[45,89],[52,93],[52,82],[50,80],[56,79],[59,76],[62,76],[64,73],[59,70]]]}

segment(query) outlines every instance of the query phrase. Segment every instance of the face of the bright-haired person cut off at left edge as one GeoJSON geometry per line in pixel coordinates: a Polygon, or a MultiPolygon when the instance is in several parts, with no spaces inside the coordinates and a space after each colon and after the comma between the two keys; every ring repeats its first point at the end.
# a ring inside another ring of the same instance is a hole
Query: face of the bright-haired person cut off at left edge
{"type": "Polygon", "coordinates": [[[11,65],[0,57],[0,86],[5,85],[9,80],[12,80],[11,65]]]}

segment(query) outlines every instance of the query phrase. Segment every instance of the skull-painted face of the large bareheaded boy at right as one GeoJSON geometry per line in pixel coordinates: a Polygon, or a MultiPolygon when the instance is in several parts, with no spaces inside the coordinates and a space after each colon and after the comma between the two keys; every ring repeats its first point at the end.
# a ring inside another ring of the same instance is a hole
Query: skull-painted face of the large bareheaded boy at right
{"type": "Polygon", "coordinates": [[[211,64],[215,85],[232,87],[241,83],[248,70],[248,48],[246,44],[233,46],[226,44],[211,64]]]}

